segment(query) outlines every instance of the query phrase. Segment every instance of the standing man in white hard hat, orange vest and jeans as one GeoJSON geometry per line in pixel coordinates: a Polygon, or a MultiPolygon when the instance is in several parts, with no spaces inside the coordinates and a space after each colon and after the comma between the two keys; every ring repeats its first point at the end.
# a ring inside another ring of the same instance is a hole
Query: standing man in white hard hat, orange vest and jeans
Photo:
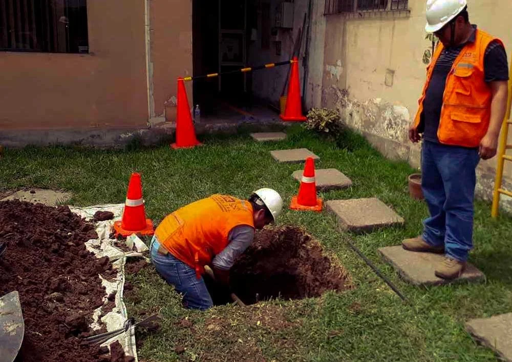
{"type": "Polygon", "coordinates": [[[444,253],[435,274],[453,279],[473,248],[476,167],[496,155],[507,103],[507,56],[500,39],[469,22],[466,0],[428,0],[425,30],[440,41],[409,128],[423,135],[421,187],[430,217],[406,250],[444,253]]]}

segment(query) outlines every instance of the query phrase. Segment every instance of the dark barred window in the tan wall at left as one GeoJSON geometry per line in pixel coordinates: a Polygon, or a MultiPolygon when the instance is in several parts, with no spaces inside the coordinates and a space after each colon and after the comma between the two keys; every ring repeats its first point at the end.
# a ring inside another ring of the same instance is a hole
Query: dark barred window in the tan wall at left
{"type": "Polygon", "coordinates": [[[0,51],[88,53],[87,0],[0,0],[0,51]]]}

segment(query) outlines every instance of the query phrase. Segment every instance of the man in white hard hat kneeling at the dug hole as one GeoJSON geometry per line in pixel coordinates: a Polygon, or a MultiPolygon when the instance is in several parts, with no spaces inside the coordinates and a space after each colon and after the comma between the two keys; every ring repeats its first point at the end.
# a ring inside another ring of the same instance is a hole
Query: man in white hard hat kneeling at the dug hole
{"type": "Polygon", "coordinates": [[[272,189],[255,191],[248,200],[212,195],[167,215],[155,230],[151,260],[157,272],[183,295],[189,309],[213,306],[202,275],[229,285],[229,270],[252,243],[254,230],[273,223],[283,199],[272,189]]]}

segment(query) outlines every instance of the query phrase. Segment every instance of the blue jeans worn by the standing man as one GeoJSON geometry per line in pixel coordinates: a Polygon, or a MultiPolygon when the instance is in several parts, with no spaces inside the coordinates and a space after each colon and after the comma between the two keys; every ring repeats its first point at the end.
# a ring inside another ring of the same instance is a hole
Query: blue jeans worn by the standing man
{"type": "Polygon", "coordinates": [[[478,149],[424,141],[421,152],[421,188],[430,211],[423,239],[444,245],[446,256],[465,262],[473,248],[478,149]]]}

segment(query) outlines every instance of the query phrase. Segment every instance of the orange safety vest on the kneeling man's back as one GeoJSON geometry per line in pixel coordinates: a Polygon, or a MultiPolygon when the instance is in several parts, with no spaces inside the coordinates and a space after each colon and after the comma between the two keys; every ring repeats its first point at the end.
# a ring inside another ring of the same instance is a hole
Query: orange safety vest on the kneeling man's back
{"type": "Polygon", "coordinates": [[[212,195],[167,215],[155,230],[160,244],[196,270],[198,278],[228,244],[238,225],[254,228],[252,206],[228,195],[212,195]]]}

